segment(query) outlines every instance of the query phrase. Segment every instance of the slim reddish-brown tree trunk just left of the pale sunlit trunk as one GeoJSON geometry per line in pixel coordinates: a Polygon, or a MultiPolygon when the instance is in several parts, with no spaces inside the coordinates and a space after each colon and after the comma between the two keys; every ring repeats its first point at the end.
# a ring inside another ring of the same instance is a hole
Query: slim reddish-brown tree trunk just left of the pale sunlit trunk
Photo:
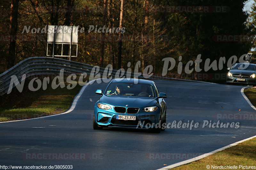
{"type": "MultiPolygon", "coordinates": [[[[102,28],[106,25],[106,11],[107,11],[107,0],[103,0],[103,16],[102,16],[102,28]]],[[[103,33],[103,30],[101,31],[101,39],[100,39],[100,67],[103,67],[103,61],[104,61],[104,37],[105,37],[105,31],[103,33]]]]}

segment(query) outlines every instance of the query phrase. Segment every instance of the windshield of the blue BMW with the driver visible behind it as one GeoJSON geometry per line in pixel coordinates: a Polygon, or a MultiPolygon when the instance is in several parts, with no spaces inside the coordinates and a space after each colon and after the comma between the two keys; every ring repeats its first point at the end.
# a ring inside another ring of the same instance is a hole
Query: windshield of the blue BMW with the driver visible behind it
{"type": "Polygon", "coordinates": [[[152,85],[144,83],[115,82],[108,86],[105,95],[128,95],[155,97],[155,90],[152,85]]]}

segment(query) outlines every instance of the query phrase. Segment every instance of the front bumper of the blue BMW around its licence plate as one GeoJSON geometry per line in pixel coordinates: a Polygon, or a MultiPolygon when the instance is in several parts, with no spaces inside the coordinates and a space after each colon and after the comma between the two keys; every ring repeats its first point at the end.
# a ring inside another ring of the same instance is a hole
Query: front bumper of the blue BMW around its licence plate
{"type": "MultiPolygon", "coordinates": [[[[142,111],[144,107],[140,107],[140,111],[137,114],[127,114],[127,113],[116,113],[112,109],[104,110],[94,106],[94,121],[100,126],[126,126],[126,127],[137,127],[141,126],[143,128],[149,123],[150,126],[156,122],[159,122],[161,108],[154,112],[145,112],[142,111]],[[127,115],[127,116],[136,116],[136,120],[119,120],[116,119],[116,115],[127,115]]],[[[126,107],[127,108],[127,107],[126,107]]],[[[153,126],[153,127],[154,127],[153,126]]]]}

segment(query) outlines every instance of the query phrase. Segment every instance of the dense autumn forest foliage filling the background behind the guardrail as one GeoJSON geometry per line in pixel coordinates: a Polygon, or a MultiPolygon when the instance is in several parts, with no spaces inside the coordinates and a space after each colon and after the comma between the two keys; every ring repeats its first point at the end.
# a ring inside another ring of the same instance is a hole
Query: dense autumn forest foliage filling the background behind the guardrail
{"type": "MultiPolygon", "coordinates": [[[[14,0],[4,0],[1,8],[0,25],[0,63],[1,70],[7,70],[10,54],[10,7],[14,0]]],[[[106,2],[106,27],[119,27],[120,0],[26,0],[20,1],[18,6],[18,28],[15,46],[14,64],[31,56],[46,56],[47,33],[31,33],[32,28],[44,28],[47,25],[73,25],[84,27],[84,33],[79,33],[78,56],[73,61],[100,65],[106,67],[112,64],[118,68],[118,33],[105,33],[105,37],[115,38],[115,41],[105,41],[103,64],[101,33],[91,31],[89,26],[102,27],[104,17],[103,3],[106,2]],[[28,33],[24,26],[29,27],[28,33]]],[[[204,0],[130,0],[124,1],[123,24],[125,32],[122,34],[121,67],[127,70],[127,63],[131,68],[140,61],[140,70],[152,65],[154,73],[162,73],[163,58],[172,57],[176,65],[170,73],[176,73],[179,56],[183,68],[188,61],[196,60],[201,54],[200,67],[204,68],[207,58],[219,62],[220,57],[227,60],[236,55],[239,58],[247,54],[254,42],[240,39],[240,41],[226,41],[224,36],[218,35],[253,35],[255,24],[252,12],[251,20],[243,11],[245,0],[204,1],[204,0]],[[183,8],[184,7],[184,8],[183,8]],[[194,11],[186,11],[188,9],[194,11]],[[206,9],[200,12],[200,7],[206,9]],[[180,8],[180,9],[179,9],[180,8]],[[169,11],[168,11],[169,9],[169,11]],[[170,10],[171,9],[171,10],[170,10]]],[[[252,8],[255,11],[254,8],[252,8]]],[[[255,15],[255,14],[254,14],[255,15]]],[[[67,57],[63,57],[68,59],[67,57]]],[[[194,64],[195,66],[195,64],[194,64]]],[[[194,66],[191,66],[193,68],[194,66]]],[[[226,64],[222,70],[225,72],[226,64]]],[[[205,70],[202,70],[203,72],[205,70]]],[[[182,70],[184,72],[184,69],[182,70]]],[[[214,72],[209,70],[208,72],[214,72]]]]}

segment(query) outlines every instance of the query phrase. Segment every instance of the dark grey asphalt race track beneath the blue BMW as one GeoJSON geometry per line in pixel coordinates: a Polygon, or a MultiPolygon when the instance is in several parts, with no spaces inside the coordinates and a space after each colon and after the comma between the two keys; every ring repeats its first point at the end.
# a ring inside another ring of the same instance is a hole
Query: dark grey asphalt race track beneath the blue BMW
{"type": "Polygon", "coordinates": [[[256,135],[256,118],[250,115],[256,111],[242,96],[243,86],[155,82],[159,91],[168,96],[167,123],[193,120],[198,122],[198,128],[170,128],[160,134],[123,127],[93,130],[94,103],[100,97],[94,92],[107,86],[94,82],[87,85],[70,113],[0,123],[0,165],[72,165],[75,170],[158,169],[256,135]],[[231,120],[225,120],[225,116],[231,120]],[[203,128],[206,120],[239,122],[240,127],[203,128]]]}

